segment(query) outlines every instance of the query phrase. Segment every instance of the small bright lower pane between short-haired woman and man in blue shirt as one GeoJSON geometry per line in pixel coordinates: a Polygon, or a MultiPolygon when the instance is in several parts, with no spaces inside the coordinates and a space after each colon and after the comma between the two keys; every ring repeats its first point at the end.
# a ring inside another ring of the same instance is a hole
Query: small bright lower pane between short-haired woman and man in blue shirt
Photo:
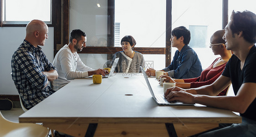
{"type": "Polygon", "coordinates": [[[154,68],[161,70],[165,68],[165,54],[143,54],[145,69],[154,68]]]}

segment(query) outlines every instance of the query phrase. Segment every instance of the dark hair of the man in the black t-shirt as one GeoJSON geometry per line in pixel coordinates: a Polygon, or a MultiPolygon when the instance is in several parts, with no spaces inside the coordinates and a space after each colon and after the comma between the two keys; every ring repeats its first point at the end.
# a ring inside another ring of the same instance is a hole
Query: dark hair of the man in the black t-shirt
{"type": "Polygon", "coordinates": [[[256,15],[251,11],[232,11],[230,16],[230,29],[232,34],[243,32],[243,37],[247,42],[256,43],[256,15]]]}

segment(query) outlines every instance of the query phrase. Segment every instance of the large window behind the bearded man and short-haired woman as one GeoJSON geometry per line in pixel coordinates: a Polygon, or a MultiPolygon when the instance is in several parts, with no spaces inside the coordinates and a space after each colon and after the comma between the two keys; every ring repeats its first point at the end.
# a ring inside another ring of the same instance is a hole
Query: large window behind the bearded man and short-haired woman
{"type": "Polygon", "coordinates": [[[87,47],[82,50],[80,57],[84,62],[92,61],[97,64],[93,69],[102,68],[102,64],[112,59],[114,53],[122,51],[120,40],[125,35],[132,35],[136,39],[135,51],[154,54],[154,58],[145,55],[145,61],[151,62],[153,59],[157,62],[154,66],[163,69],[166,45],[165,9],[166,0],[71,0],[69,31],[81,29],[86,32],[87,47]],[[125,12],[123,8],[129,12],[125,12]],[[112,11],[116,15],[111,14],[112,11]],[[134,15],[138,12],[140,14],[134,15]],[[133,17],[128,19],[132,14],[133,17]]]}

